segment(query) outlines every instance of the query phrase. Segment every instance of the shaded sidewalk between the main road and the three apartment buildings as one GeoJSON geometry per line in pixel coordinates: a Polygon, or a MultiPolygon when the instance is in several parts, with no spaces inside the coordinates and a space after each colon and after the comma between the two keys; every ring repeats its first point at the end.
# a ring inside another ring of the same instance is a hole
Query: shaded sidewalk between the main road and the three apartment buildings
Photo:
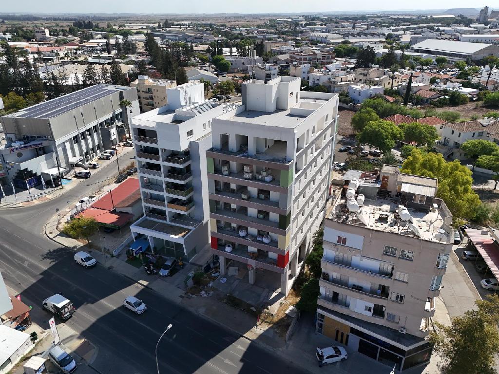
{"type": "MultiPolygon", "coordinates": [[[[45,233],[50,239],[75,250],[90,252],[99,263],[104,264],[108,269],[123,274],[137,284],[158,292],[172,302],[181,304],[221,327],[232,330],[264,349],[272,350],[284,360],[299,365],[304,371],[323,374],[324,368],[320,369],[317,365],[315,349],[316,347],[331,346],[333,342],[331,339],[315,333],[311,316],[301,317],[291,341],[286,343],[282,333],[278,332],[272,325],[257,321],[253,315],[224,303],[226,295],[223,292],[213,290],[208,297],[186,293],[183,280],[197,265],[188,264],[179,271],[181,274],[175,274],[173,277],[161,278],[147,275],[142,268],[130,265],[120,258],[104,255],[98,250],[89,249],[77,240],[60,234],[55,227],[55,220],[56,218],[52,217],[45,227],[45,233]]],[[[441,298],[437,299],[436,308],[433,320],[446,325],[450,324],[449,313],[441,298]]],[[[369,369],[370,374],[387,374],[391,370],[391,368],[368,359],[358,352],[352,352],[349,349],[347,352],[349,359],[346,362],[333,365],[335,372],[339,374],[362,373],[367,369],[369,369]]],[[[429,365],[412,368],[404,373],[436,374],[439,373],[437,370],[438,362],[439,358],[433,355],[429,365]]]]}

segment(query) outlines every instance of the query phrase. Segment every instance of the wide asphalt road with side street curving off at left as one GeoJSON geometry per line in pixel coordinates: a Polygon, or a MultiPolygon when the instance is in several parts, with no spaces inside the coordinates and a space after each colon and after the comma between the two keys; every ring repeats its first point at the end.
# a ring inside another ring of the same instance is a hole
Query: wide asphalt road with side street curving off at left
{"type": "MultiPolygon", "coordinates": [[[[98,347],[92,367],[101,374],[156,373],[154,349],[169,324],[173,328],[158,347],[161,373],[303,373],[100,264],[93,269],[77,266],[71,249],[46,238],[43,226],[56,207],[89,194],[95,190],[93,183],[116,173],[113,163],[57,198],[0,210],[0,269],[6,284],[37,305],[58,292],[71,299],[77,311],[66,324],[98,347]],[[140,316],[126,310],[122,302],[127,295],[142,299],[148,310],[140,316]]],[[[51,315],[44,316],[35,322],[43,326],[51,315]]]]}

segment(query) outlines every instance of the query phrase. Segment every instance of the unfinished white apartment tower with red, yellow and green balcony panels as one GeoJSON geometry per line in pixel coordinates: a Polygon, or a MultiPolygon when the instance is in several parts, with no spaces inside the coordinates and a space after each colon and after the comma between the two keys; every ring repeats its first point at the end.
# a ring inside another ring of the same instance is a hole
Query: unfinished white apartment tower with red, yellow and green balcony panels
{"type": "Polygon", "coordinates": [[[250,284],[265,272],[287,295],[322,221],[338,96],[301,92],[300,78],[282,76],[244,82],[242,101],[212,122],[211,246],[222,274],[232,260],[250,284]]]}

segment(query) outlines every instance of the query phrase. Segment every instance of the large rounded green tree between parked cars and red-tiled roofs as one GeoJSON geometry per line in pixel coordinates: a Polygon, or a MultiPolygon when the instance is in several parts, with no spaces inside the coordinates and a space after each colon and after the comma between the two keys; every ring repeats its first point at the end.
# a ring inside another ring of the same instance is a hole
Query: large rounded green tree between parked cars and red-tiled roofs
{"type": "Polygon", "coordinates": [[[383,153],[390,153],[397,139],[403,139],[404,133],[393,122],[378,120],[369,122],[357,135],[359,143],[367,143],[379,148],[383,153]]]}

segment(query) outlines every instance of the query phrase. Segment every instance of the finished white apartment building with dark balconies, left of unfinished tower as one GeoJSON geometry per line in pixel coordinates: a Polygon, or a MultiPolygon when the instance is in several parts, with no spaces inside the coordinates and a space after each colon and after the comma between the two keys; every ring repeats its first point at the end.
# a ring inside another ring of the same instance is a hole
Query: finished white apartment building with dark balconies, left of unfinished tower
{"type": "Polygon", "coordinates": [[[130,229],[154,253],[191,261],[209,242],[206,150],[213,108],[200,82],[167,90],[168,105],[133,119],[132,132],[144,217],[130,229]]]}

